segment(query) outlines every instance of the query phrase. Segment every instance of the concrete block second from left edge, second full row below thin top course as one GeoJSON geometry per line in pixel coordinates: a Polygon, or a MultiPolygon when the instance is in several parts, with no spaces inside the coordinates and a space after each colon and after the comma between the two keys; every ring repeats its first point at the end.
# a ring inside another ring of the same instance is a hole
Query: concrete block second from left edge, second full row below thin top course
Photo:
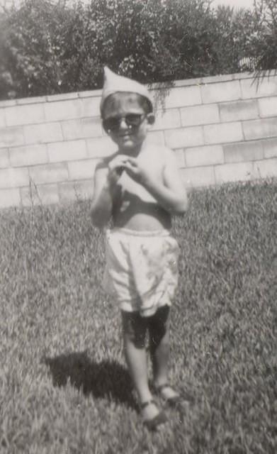
{"type": "Polygon", "coordinates": [[[60,123],[24,126],[26,143],[50,143],[63,140],[60,123]]]}

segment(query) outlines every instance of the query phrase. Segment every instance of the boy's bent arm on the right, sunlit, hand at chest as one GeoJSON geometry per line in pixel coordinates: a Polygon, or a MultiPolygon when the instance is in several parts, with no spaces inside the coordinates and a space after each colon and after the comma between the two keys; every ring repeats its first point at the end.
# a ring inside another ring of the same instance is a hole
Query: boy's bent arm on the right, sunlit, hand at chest
{"type": "Polygon", "coordinates": [[[165,153],[164,183],[153,179],[152,173],[140,168],[136,160],[129,160],[126,170],[129,170],[130,176],[137,179],[166,211],[172,214],[183,214],[188,209],[186,189],[181,180],[174,152],[166,149],[165,153]]]}

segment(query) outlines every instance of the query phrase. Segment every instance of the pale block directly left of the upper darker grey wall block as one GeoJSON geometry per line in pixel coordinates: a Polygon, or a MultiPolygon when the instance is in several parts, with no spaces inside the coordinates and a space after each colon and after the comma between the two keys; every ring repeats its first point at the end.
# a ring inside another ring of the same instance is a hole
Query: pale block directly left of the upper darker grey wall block
{"type": "Polygon", "coordinates": [[[181,110],[182,126],[219,123],[220,116],[217,104],[183,107],[181,110]]]}

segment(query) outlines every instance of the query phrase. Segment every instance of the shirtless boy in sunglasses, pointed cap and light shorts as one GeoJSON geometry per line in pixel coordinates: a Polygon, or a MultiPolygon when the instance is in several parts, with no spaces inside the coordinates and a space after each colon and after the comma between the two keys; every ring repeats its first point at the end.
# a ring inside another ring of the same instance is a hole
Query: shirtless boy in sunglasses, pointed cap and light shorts
{"type": "Polygon", "coordinates": [[[179,394],[168,382],[169,306],[177,284],[179,246],[170,236],[171,214],[187,209],[173,151],[149,144],[154,123],[146,87],[104,69],[103,128],[118,151],[96,167],[91,215],[106,233],[104,285],[121,309],[125,358],[150,429],[166,422],[147,378],[145,335],[153,365],[154,389],[169,404],[179,394]]]}

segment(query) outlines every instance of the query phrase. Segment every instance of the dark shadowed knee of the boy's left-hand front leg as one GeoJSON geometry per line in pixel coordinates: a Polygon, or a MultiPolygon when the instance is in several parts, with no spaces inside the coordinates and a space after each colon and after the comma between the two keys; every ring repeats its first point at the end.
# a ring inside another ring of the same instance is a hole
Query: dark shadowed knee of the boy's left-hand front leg
{"type": "Polygon", "coordinates": [[[145,348],[146,321],[138,312],[122,312],[123,335],[136,348],[145,348]]]}

